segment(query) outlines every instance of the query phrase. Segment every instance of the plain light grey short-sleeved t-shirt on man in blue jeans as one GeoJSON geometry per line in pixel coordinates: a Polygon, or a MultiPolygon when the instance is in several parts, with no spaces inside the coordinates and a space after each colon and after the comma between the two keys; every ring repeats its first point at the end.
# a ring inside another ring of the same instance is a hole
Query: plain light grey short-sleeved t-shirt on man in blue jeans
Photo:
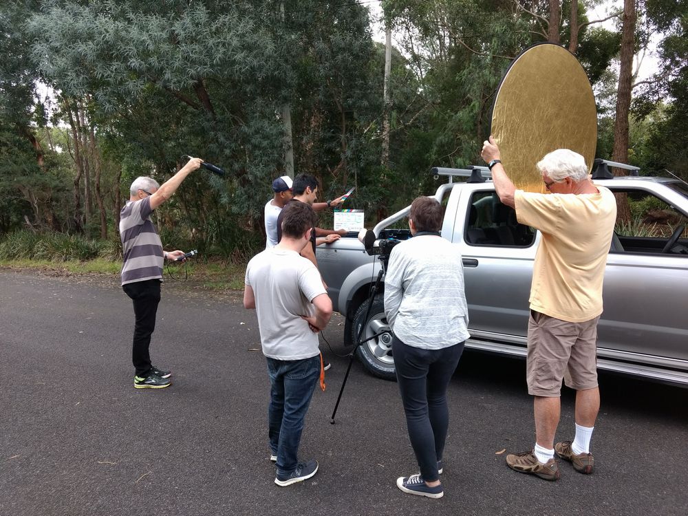
{"type": "Polygon", "coordinates": [[[301,315],[313,315],[311,301],[326,294],[320,272],[296,251],[272,247],[246,267],[253,289],[263,354],[277,360],[301,360],[320,354],[318,335],[301,315]]]}

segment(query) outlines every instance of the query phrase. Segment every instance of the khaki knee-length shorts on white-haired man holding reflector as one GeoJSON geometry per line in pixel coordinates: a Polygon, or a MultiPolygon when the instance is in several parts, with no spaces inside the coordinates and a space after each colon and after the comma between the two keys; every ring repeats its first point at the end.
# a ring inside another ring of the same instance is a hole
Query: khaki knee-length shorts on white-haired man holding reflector
{"type": "Polygon", "coordinates": [[[528,320],[528,394],[555,398],[561,380],[576,390],[597,387],[597,323],[569,323],[530,310],[528,320]]]}

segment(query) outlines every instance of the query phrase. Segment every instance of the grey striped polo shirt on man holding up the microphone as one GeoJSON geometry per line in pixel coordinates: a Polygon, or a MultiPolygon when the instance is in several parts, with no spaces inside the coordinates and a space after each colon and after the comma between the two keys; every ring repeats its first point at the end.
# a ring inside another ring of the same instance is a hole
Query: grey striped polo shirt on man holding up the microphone
{"type": "Polygon", "coordinates": [[[162,281],[162,241],[151,220],[151,197],[127,201],[120,213],[120,238],[125,261],[122,285],[147,279],[162,281]]]}

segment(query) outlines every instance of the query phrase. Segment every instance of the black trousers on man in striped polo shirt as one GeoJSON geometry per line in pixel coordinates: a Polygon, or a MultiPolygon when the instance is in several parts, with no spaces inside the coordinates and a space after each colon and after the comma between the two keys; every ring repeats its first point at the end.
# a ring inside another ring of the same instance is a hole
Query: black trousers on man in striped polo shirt
{"type": "Polygon", "coordinates": [[[131,360],[136,368],[136,376],[147,376],[151,370],[151,335],[155,330],[155,316],[160,303],[160,280],[148,279],[122,285],[122,290],[133,301],[133,314],[136,322],[133,327],[131,360]]]}

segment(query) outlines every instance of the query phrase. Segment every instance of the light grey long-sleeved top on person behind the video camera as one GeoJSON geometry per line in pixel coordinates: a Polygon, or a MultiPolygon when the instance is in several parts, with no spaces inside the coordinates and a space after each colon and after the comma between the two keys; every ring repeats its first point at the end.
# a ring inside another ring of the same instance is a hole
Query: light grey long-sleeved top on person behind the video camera
{"type": "Polygon", "coordinates": [[[385,314],[405,344],[440,350],[469,338],[464,268],[458,246],[420,235],[391,251],[385,314]]]}

